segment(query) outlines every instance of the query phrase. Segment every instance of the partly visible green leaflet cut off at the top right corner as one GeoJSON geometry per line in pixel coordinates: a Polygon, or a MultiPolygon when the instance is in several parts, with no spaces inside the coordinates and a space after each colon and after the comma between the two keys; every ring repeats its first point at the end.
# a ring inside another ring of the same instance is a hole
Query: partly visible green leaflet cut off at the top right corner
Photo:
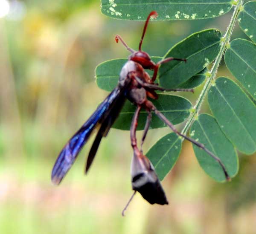
{"type": "Polygon", "coordinates": [[[238,18],[240,28],[253,42],[256,42],[256,1],[244,4],[238,18]]]}

